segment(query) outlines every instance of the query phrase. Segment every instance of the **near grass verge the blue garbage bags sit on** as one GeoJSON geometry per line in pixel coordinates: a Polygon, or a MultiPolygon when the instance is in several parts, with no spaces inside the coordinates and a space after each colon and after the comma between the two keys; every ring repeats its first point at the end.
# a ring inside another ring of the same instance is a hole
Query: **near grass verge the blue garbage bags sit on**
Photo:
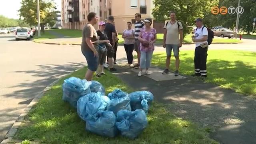
{"type": "MultiPolygon", "coordinates": [[[[71,76],[84,77],[86,68],[71,76]]],[[[95,78],[106,92],[121,88],[133,90],[119,78],[106,72],[107,76],[95,78]]],[[[68,76],[70,77],[70,76],[68,76]]],[[[189,121],[176,118],[163,104],[154,102],[148,114],[148,127],[136,140],[121,136],[106,138],[85,131],[85,122],[76,110],[62,101],[62,83],[65,78],[52,86],[36,106],[30,110],[25,122],[16,134],[16,139],[30,140],[40,144],[217,144],[202,130],[189,121]]]]}

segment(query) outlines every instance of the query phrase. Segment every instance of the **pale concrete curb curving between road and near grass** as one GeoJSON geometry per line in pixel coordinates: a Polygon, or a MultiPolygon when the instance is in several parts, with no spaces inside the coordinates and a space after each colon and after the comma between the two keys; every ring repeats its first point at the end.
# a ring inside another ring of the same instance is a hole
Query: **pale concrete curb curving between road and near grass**
{"type": "MultiPolygon", "coordinates": [[[[84,66],[81,66],[81,68],[78,68],[76,70],[74,70],[73,72],[76,72],[80,69],[84,68],[84,66]]],[[[0,143],[0,144],[9,144],[14,135],[16,134],[18,128],[20,127],[20,125],[22,124],[22,121],[24,120],[24,117],[28,114],[28,112],[31,110],[32,106],[34,106],[35,104],[38,103],[38,101],[40,100],[40,98],[42,98],[42,96],[51,89],[51,87],[56,84],[57,82],[59,82],[63,77],[68,76],[70,74],[72,74],[73,72],[70,72],[68,74],[65,74],[64,76],[58,78],[58,80],[55,80],[54,82],[52,82],[49,86],[47,86],[46,88],[44,88],[44,90],[42,90],[40,92],[40,94],[38,94],[37,96],[35,96],[33,98],[33,100],[28,104],[28,106],[24,109],[24,111],[20,114],[20,116],[17,118],[17,120],[14,122],[14,124],[12,125],[12,127],[10,128],[10,130],[7,132],[7,134],[4,137],[4,140],[0,143]]]]}

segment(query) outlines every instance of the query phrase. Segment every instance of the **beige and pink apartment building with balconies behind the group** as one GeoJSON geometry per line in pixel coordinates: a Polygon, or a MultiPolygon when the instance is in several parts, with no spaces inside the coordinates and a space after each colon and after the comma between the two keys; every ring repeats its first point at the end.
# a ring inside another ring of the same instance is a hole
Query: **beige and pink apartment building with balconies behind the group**
{"type": "MultiPolygon", "coordinates": [[[[142,19],[153,18],[153,0],[62,0],[62,3],[63,28],[82,29],[90,12],[96,12],[100,21],[114,16],[119,33],[126,28],[127,22],[135,23],[135,13],[141,13],[142,19]]],[[[98,25],[94,27],[98,29],[98,25]]]]}

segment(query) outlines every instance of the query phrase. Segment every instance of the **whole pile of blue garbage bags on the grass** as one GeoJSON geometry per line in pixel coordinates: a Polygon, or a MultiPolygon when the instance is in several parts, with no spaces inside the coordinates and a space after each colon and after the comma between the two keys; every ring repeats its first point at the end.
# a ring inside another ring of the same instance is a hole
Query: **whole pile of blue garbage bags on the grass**
{"type": "Polygon", "coordinates": [[[148,125],[148,108],[154,96],[148,91],[130,94],[116,89],[106,96],[100,82],[71,77],[62,85],[62,100],[77,109],[86,130],[113,138],[118,134],[137,138],[148,125]]]}

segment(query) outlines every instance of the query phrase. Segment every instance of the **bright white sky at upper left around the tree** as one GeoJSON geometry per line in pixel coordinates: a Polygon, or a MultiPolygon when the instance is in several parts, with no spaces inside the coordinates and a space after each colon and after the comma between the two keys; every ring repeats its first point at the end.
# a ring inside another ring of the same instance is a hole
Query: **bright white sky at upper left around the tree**
{"type": "MultiPolygon", "coordinates": [[[[0,0],[0,15],[4,15],[8,18],[18,19],[18,10],[20,9],[20,2],[22,0],[0,0]]],[[[61,11],[61,0],[54,0],[57,4],[57,10],[61,11]]]]}

